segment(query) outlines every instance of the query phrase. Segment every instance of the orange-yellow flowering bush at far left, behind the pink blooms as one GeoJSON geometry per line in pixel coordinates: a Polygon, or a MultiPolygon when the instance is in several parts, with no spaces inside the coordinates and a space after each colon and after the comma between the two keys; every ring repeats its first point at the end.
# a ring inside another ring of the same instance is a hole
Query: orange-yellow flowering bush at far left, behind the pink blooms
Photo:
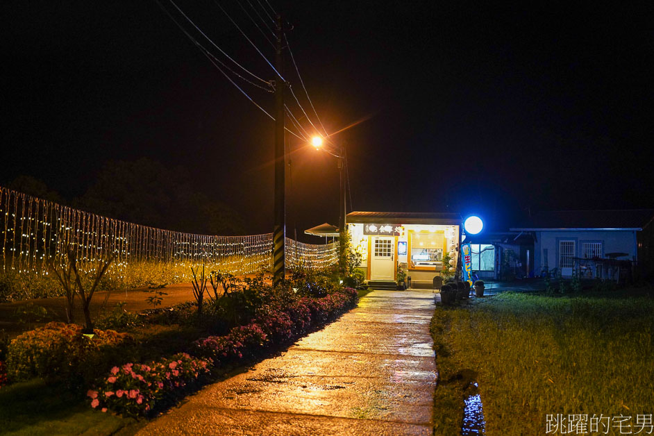
{"type": "Polygon", "coordinates": [[[83,335],[76,324],[51,322],[13,339],[7,351],[10,380],[40,377],[49,383],[79,387],[111,367],[115,355],[133,355],[135,343],[127,333],[94,330],[83,335]]]}

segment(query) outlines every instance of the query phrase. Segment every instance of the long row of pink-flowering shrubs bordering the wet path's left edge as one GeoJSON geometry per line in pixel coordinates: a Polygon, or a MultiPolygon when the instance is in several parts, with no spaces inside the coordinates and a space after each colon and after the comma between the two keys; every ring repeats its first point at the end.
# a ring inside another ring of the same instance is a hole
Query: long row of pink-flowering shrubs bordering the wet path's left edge
{"type": "Polygon", "coordinates": [[[301,297],[287,304],[262,305],[246,326],[231,328],[224,336],[193,342],[190,354],[175,355],[149,364],[114,367],[90,389],[91,406],[125,416],[149,416],[164,410],[185,393],[198,388],[226,364],[253,358],[271,345],[287,344],[311,328],[324,324],[352,307],[356,290],[333,290],[322,298],[301,297]],[[274,307],[276,306],[276,307],[274,307]]]}

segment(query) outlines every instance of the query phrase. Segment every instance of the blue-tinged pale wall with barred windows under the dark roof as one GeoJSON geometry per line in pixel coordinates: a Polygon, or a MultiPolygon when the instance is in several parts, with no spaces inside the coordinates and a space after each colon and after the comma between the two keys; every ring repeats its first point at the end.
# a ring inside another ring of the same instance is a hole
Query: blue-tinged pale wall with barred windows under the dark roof
{"type": "MultiPolygon", "coordinates": [[[[599,250],[602,258],[606,253],[627,253],[627,259],[635,259],[636,233],[633,230],[539,230],[535,242],[535,271],[540,274],[544,267],[561,269],[561,242],[573,242],[573,257],[585,257],[584,250],[599,250]]],[[[624,258],[623,258],[624,259],[624,258]]],[[[562,269],[563,276],[569,269],[562,269]]]]}

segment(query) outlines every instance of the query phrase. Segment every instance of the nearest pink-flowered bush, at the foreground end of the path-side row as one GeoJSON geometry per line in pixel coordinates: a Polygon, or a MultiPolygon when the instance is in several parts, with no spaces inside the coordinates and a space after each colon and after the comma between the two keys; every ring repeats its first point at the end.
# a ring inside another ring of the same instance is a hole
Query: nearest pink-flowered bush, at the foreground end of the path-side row
{"type": "Polygon", "coordinates": [[[211,361],[180,353],[148,364],[127,363],[110,369],[86,393],[91,407],[126,417],[148,416],[198,389],[210,374],[211,361]]]}

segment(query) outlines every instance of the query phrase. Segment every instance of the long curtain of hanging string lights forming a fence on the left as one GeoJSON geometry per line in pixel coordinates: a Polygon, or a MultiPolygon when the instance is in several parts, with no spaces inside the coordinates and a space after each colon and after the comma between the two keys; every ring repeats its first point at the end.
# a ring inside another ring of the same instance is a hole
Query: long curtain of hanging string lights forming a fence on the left
{"type": "MultiPolygon", "coordinates": [[[[171,268],[219,265],[233,274],[251,274],[271,265],[272,234],[214,236],[181,233],[101,217],[0,187],[2,269],[47,274],[48,264],[69,249],[82,269],[114,258],[109,276],[135,262],[171,268]]],[[[287,266],[322,268],[337,261],[337,244],[303,244],[287,238],[287,266]]]]}

